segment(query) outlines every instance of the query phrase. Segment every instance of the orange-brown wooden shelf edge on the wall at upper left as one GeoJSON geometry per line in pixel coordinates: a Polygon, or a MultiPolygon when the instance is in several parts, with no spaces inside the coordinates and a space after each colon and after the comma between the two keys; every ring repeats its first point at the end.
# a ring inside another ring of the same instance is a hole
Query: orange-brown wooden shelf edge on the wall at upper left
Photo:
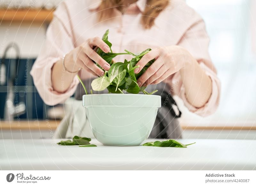
{"type": "Polygon", "coordinates": [[[8,22],[51,22],[54,10],[40,9],[20,9],[5,10],[0,9],[0,20],[8,22]]]}

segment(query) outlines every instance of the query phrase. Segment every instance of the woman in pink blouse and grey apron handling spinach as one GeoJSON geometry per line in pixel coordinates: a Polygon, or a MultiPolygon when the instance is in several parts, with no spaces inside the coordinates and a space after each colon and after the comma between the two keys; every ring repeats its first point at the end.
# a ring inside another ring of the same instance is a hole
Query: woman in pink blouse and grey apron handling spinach
{"type": "MultiPolygon", "coordinates": [[[[65,1],[54,12],[44,48],[31,75],[37,90],[48,105],[63,103],[76,92],[76,100],[84,94],[76,74],[87,89],[91,81],[103,75],[94,62],[106,71],[109,64],[93,49],[109,52],[101,40],[109,29],[108,40],[113,52],[148,52],[137,65],[136,73],[148,61],[156,61],[138,79],[148,91],[158,89],[162,96],[151,138],[180,138],[181,130],[174,112],[176,105],[170,94],[178,95],[185,106],[201,116],[212,114],[220,97],[220,81],[208,53],[209,38],[202,18],[183,0],[103,0],[65,1]]],[[[124,61],[131,56],[117,56],[124,61]]],[[[95,93],[95,92],[94,92],[95,93]]],[[[98,93],[98,92],[97,92],[98,93]]],[[[106,91],[100,93],[107,93],[106,91]]],[[[56,137],[91,136],[81,102],[61,122],[56,137]],[[81,113],[82,112],[82,113],[81,113]]],[[[177,111],[177,110],[176,110],[177,111]]]]}

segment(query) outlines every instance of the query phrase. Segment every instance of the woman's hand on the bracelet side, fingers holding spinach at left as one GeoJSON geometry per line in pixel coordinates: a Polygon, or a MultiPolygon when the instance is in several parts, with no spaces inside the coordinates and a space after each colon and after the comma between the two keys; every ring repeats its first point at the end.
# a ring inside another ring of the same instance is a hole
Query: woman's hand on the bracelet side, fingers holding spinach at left
{"type": "Polygon", "coordinates": [[[93,37],[85,41],[79,47],[74,48],[65,56],[65,66],[68,71],[78,71],[83,68],[96,76],[103,76],[104,71],[100,69],[94,62],[100,65],[104,70],[108,71],[110,65],[100,57],[94,50],[99,47],[103,52],[108,53],[110,48],[99,37],[93,37]],[[94,61],[94,62],[93,62],[94,61]]]}

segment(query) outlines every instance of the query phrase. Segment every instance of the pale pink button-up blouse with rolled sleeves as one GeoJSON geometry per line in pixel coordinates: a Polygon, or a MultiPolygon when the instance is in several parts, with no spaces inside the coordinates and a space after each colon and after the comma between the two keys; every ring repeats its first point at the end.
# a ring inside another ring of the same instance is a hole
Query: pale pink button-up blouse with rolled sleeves
{"type": "MultiPolygon", "coordinates": [[[[143,51],[146,48],[179,45],[186,48],[198,61],[212,80],[212,94],[201,108],[195,108],[187,100],[179,72],[170,76],[167,82],[172,87],[172,95],[178,95],[185,106],[201,116],[212,114],[220,100],[220,80],[217,77],[208,52],[209,37],[203,19],[183,0],[172,0],[159,16],[155,25],[145,29],[141,24],[141,12],[148,6],[146,0],[139,0],[128,6],[122,14],[115,10],[115,18],[98,22],[97,8],[100,1],[67,0],[54,12],[54,18],[48,27],[46,38],[39,56],[30,72],[36,88],[47,105],[63,103],[76,91],[79,81],[75,77],[66,92],[58,93],[52,88],[51,68],[73,48],[86,39],[102,37],[109,29],[108,40],[113,44],[113,52],[143,51]]],[[[131,56],[117,56],[114,60],[124,61],[131,56]]],[[[80,72],[83,79],[93,77],[80,72]]],[[[203,98],[202,98],[203,99],[203,98]]]]}

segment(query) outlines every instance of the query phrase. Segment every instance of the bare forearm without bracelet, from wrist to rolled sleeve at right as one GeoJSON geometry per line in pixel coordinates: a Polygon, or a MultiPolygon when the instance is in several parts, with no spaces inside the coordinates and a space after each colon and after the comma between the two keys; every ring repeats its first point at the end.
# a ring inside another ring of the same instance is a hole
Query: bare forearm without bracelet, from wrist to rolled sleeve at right
{"type": "Polygon", "coordinates": [[[211,78],[203,71],[196,59],[188,54],[185,67],[180,70],[188,102],[196,108],[204,106],[212,93],[211,78]]]}

